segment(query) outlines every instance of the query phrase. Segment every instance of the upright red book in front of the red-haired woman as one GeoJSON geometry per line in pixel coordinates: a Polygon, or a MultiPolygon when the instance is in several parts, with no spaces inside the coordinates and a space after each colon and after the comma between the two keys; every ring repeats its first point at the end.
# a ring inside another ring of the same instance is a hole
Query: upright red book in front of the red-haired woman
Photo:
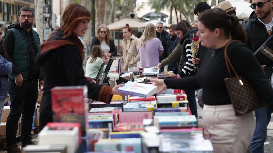
{"type": "Polygon", "coordinates": [[[87,86],[64,86],[51,89],[54,122],[76,122],[81,124],[84,136],[88,129],[87,86]]]}

